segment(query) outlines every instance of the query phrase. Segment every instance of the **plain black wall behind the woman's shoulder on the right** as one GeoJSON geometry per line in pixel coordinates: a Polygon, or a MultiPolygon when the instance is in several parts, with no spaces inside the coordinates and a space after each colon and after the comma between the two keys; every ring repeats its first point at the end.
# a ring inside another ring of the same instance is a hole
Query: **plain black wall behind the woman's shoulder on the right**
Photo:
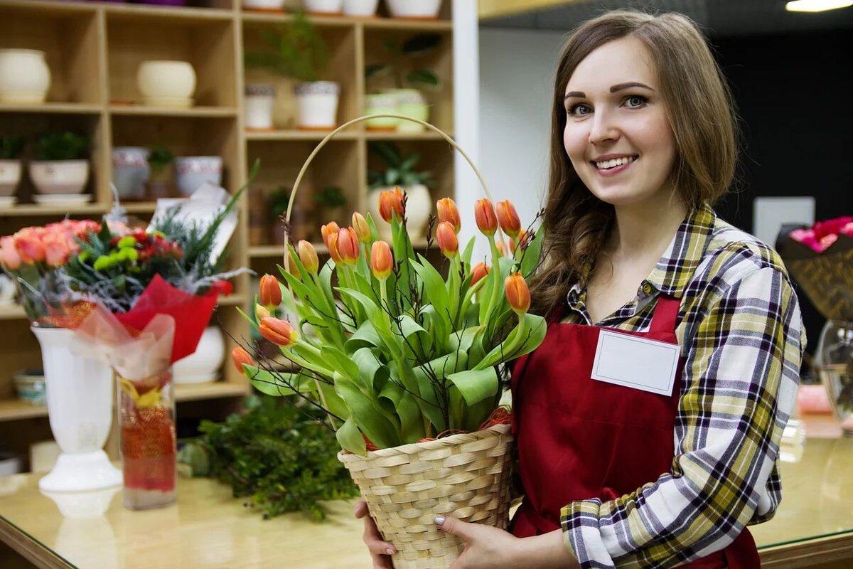
{"type": "MultiPolygon", "coordinates": [[[[711,41],[744,135],[740,189],[720,216],[751,231],[755,196],[797,195],[815,196],[817,220],[853,215],[853,30],[711,41]]],[[[798,297],[813,352],[824,320],[798,297]]]]}

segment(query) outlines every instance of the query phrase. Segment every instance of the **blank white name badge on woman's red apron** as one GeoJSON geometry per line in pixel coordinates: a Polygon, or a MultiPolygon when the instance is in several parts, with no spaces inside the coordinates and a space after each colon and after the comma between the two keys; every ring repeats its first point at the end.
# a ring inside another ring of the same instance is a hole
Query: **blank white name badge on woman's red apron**
{"type": "Polygon", "coordinates": [[[592,379],[670,395],[678,367],[676,344],[601,330],[592,379]]]}

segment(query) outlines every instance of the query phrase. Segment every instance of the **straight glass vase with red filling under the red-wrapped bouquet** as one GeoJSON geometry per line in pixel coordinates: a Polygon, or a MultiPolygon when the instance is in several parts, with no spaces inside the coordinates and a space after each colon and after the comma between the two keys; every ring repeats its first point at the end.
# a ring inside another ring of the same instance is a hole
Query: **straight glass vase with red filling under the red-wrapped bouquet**
{"type": "Polygon", "coordinates": [[[163,508],[177,498],[177,440],[171,368],[119,380],[125,508],[163,508]]]}

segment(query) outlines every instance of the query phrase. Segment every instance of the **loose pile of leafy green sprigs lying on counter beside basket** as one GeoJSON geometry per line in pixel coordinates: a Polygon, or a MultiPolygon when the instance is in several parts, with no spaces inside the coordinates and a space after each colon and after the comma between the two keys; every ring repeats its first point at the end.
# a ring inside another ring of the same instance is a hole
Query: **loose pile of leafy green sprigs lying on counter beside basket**
{"type": "Polygon", "coordinates": [[[265,395],[246,404],[245,414],[223,423],[202,421],[203,436],[181,450],[179,458],[192,465],[194,476],[231,485],[235,497],[251,496],[264,519],[303,512],[322,520],[321,500],[358,495],[320,413],[265,395]]]}

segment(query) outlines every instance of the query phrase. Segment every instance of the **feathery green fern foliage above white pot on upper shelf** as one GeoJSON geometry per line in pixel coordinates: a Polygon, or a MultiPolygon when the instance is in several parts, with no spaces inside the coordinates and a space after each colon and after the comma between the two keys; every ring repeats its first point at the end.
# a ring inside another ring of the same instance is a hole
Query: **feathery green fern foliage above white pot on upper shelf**
{"type": "Polygon", "coordinates": [[[247,52],[247,67],[263,67],[298,81],[316,81],[328,63],[326,42],[301,11],[294,13],[278,32],[262,30],[260,36],[273,50],[247,52]]]}

